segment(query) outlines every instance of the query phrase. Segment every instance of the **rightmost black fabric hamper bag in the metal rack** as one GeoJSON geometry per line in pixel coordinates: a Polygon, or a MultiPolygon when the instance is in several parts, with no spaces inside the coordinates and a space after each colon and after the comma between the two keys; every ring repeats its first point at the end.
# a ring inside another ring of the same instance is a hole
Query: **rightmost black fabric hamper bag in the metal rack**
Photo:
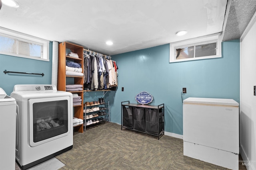
{"type": "Polygon", "coordinates": [[[145,109],[145,131],[148,133],[160,133],[163,131],[163,113],[162,109],[159,109],[159,115],[157,109],[145,109]],[[159,124],[159,131],[158,131],[159,124]]]}

